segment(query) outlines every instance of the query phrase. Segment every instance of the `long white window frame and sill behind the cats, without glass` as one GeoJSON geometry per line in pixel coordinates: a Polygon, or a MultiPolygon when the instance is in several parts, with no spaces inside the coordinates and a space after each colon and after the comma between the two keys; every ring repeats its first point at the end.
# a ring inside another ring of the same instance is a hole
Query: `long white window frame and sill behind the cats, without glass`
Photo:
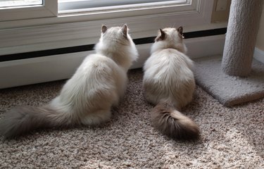
{"type": "Polygon", "coordinates": [[[127,23],[132,38],[153,37],[161,27],[209,24],[212,10],[212,0],[187,0],[182,6],[170,4],[145,10],[120,8],[115,12],[65,13],[56,17],[2,21],[0,56],[95,44],[102,24],[110,27],[127,23]]]}

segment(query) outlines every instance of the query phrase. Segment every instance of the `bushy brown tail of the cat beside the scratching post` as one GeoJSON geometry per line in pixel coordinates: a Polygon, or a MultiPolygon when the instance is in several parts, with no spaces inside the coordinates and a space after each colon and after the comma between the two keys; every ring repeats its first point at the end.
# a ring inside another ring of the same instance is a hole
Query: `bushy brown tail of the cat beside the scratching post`
{"type": "Polygon", "coordinates": [[[165,102],[153,108],[151,121],[154,127],[173,139],[197,139],[199,137],[198,125],[165,102]]]}

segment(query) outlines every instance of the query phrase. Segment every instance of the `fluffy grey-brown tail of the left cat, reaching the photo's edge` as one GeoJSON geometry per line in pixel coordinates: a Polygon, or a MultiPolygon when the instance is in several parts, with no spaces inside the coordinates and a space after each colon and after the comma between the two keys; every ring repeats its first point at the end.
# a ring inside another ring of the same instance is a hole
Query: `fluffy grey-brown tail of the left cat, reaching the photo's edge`
{"type": "Polygon", "coordinates": [[[38,128],[67,125],[68,120],[66,114],[50,106],[13,108],[0,120],[0,134],[11,139],[38,128]]]}

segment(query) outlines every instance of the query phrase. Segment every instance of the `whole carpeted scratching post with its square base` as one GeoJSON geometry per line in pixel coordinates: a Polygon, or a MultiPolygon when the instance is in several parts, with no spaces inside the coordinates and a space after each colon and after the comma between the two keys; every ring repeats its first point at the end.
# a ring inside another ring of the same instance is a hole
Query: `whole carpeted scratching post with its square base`
{"type": "Polygon", "coordinates": [[[225,106],[264,97],[264,64],[253,59],[263,0],[232,0],[223,56],[196,59],[196,84],[225,106]]]}

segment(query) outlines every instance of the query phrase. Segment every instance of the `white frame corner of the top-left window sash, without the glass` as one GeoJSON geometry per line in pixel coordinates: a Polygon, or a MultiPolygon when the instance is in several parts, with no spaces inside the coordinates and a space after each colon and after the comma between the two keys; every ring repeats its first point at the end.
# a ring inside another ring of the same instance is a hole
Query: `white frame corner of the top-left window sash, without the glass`
{"type": "Polygon", "coordinates": [[[58,3],[55,0],[44,0],[42,5],[15,6],[0,8],[0,22],[31,18],[46,18],[58,15],[58,3]]]}

